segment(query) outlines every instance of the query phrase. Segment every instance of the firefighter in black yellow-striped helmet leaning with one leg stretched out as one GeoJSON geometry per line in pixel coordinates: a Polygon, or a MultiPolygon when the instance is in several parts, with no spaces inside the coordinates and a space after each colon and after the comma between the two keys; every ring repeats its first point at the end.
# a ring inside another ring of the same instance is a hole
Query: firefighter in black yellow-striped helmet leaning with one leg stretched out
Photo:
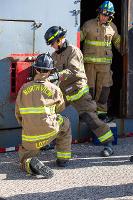
{"type": "Polygon", "coordinates": [[[84,71],[83,55],[79,48],[71,45],[65,38],[66,30],[60,26],[52,26],[45,33],[48,45],[55,49],[52,54],[60,76],[60,88],[66,98],[66,103],[71,104],[79,113],[81,121],[105,144],[103,156],[113,154],[111,141],[113,134],[96,114],[96,104],[92,101],[84,71]]]}

